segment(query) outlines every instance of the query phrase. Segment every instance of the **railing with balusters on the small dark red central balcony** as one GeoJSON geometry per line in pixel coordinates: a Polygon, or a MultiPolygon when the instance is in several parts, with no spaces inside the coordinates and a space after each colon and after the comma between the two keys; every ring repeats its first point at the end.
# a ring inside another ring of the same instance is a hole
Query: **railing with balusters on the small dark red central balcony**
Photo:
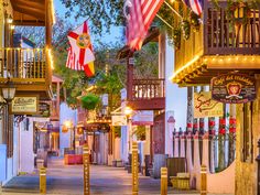
{"type": "Polygon", "coordinates": [[[164,78],[133,79],[132,100],[163,98],[164,78]]]}

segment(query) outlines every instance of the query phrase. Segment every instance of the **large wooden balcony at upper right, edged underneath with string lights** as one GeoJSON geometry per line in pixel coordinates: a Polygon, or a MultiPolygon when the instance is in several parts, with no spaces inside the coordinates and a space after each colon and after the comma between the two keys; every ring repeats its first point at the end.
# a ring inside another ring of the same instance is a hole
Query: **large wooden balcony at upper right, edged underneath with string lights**
{"type": "Polygon", "coordinates": [[[204,0],[203,23],[198,32],[182,39],[175,51],[175,73],[172,80],[178,85],[206,85],[213,76],[238,71],[256,74],[260,71],[260,7],[247,13],[242,8],[227,13],[227,2],[216,8],[204,0]],[[245,21],[243,14],[247,14],[245,21]]]}

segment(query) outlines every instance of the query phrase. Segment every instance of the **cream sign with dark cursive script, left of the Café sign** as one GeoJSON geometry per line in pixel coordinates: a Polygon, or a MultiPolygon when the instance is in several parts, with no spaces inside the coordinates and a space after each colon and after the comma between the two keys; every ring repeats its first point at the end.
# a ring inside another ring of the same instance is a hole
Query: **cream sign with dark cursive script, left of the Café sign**
{"type": "Polygon", "coordinates": [[[194,93],[194,118],[221,117],[223,104],[212,98],[210,91],[194,93]]]}

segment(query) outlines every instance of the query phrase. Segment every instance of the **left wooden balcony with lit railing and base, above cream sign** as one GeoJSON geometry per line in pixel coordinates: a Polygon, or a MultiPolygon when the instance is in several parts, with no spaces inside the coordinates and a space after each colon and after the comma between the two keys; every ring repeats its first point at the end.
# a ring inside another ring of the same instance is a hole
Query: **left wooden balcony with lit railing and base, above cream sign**
{"type": "Polygon", "coordinates": [[[0,87],[8,78],[14,83],[17,94],[37,94],[40,99],[51,98],[51,67],[45,48],[0,48],[0,87]]]}

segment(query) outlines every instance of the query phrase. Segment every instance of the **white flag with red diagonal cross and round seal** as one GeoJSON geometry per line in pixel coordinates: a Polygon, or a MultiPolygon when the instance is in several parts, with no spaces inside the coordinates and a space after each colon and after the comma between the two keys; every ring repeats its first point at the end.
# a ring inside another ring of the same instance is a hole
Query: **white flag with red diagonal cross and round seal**
{"type": "Polygon", "coordinates": [[[94,52],[87,21],[67,35],[71,48],[66,66],[75,71],[85,71],[86,76],[95,75],[94,52]]]}

